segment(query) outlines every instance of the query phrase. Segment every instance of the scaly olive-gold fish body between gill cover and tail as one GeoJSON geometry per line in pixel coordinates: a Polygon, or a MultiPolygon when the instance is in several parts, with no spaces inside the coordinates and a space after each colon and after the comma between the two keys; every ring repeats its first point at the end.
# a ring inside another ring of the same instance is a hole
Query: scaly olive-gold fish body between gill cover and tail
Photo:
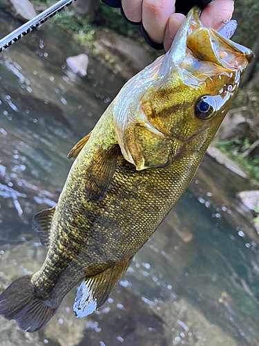
{"type": "Polygon", "coordinates": [[[135,255],[180,199],[205,150],[183,152],[173,165],[160,170],[138,172],[131,163],[119,160],[99,203],[85,198],[82,152],[55,211],[44,266],[32,277],[44,298],[63,297],[84,275],[97,275],[135,255]]]}

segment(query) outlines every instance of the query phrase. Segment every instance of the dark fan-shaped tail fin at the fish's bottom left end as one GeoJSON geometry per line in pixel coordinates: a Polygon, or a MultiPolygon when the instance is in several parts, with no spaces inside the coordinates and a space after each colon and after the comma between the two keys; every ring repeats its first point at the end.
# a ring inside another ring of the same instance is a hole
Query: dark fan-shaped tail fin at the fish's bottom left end
{"type": "Polygon", "coordinates": [[[0,315],[16,320],[21,329],[30,333],[41,329],[57,311],[50,302],[40,299],[31,277],[20,277],[0,295],[0,315]]]}

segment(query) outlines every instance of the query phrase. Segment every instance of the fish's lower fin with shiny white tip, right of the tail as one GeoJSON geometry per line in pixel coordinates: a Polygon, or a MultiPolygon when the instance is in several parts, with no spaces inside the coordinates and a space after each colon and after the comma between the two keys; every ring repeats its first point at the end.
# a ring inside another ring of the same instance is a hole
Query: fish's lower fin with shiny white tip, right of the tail
{"type": "Polygon", "coordinates": [[[73,307],[77,317],[90,315],[104,304],[108,295],[130,266],[132,259],[133,257],[126,258],[99,275],[87,277],[81,283],[73,307]]]}

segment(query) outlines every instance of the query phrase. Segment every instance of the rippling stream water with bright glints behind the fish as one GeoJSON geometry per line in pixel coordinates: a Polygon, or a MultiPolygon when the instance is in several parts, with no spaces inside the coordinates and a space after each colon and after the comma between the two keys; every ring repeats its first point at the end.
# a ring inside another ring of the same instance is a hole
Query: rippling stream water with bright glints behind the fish
{"type": "MultiPolygon", "coordinates": [[[[1,21],[1,36],[18,26],[3,13],[1,21]]],[[[123,84],[92,58],[77,78],[66,58],[79,53],[50,23],[0,55],[0,291],[44,261],[30,221],[57,202],[66,155],[123,84]]],[[[0,345],[258,345],[258,246],[231,207],[246,184],[204,158],[99,311],[75,318],[73,289],[35,334],[1,318],[0,345]]]]}

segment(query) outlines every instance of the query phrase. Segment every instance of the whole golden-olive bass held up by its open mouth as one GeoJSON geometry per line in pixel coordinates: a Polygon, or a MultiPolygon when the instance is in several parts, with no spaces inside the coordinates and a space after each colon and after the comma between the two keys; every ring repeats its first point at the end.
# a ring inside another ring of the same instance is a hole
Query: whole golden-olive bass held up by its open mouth
{"type": "Polygon", "coordinates": [[[193,8],[169,52],[129,80],[73,147],[57,206],[32,219],[46,260],[1,293],[3,318],[38,331],[80,282],[77,317],[106,302],[188,187],[253,60],[225,32],[205,28],[193,8]]]}

